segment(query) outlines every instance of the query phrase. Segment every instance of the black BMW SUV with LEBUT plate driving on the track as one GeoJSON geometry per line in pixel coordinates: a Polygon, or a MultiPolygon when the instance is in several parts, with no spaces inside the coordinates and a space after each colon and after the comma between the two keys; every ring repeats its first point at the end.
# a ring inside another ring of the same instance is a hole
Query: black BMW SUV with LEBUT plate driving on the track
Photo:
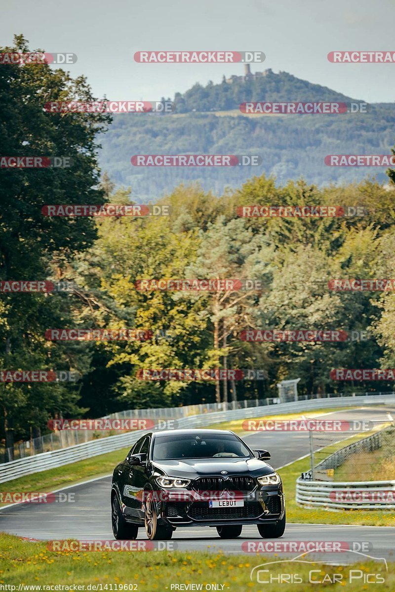
{"type": "Polygon", "coordinates": [[[256,524],[262,537],[285,529],[280,476],[267,451],[252,451],[227,430],[172,430],[144,435],[114,469],[115,539],[171,539],[177,526],[214,526],[235,538],[256,524]]]}

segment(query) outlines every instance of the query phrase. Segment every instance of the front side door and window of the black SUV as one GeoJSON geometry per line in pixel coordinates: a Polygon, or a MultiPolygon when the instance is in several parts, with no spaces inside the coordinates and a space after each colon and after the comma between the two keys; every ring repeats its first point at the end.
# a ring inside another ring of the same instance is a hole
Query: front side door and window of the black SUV
{"type": "MultiPolygon", "coordinates": [[[[136,442],[129,455],[133,456],[134,454],[148,452],[149,442],[149,436],[143,436],[136,442]]],[[[123,472],[123,497],[126,506],[124,514],[143,521],[142,501],[144,484],[146,482],[146,464],[130,465],[127,462],[129,455],[126,457],[126,466],[123,472]]]]}

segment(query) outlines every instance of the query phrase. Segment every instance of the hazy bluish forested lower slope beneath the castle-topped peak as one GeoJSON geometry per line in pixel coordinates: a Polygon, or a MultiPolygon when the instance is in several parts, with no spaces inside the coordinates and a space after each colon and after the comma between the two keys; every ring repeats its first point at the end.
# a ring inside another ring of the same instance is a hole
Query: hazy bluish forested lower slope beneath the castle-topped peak
{"type": "Polygon", "coordinates": [[[340,115],[114,115],[99,163],[118,185],[130,185],[137,200],[155,200],[191,182],[221,195],[262,174],[282,184],[301,176],[319,186],[362,181],[367,175],[386,182],[383,168],[326,166],[324,159],[330,154],[390,154],[393,134],[388,129],[394,123],[394,105],[340,115]],[[186,153],[258,155],[262,164],[202,168],[130,163],[133,155],[186,153]]]}

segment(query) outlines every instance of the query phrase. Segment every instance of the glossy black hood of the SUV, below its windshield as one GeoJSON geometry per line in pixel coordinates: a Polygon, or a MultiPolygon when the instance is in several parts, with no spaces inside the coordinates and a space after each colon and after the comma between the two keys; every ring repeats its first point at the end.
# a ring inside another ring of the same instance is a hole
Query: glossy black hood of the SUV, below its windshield
{"type": "Polygon", "coordinates": [[[169,477],[185,477],[195,479],[206,475],[230,477],[230,475],[246,475],[259,477],[268,475],[274,469],[258,458],[213,458],[213,459],[180,459],[176,461],[154,461],[153,465],[169,477]],[[221,474],[227,471],[227,475],[221,474]]]}

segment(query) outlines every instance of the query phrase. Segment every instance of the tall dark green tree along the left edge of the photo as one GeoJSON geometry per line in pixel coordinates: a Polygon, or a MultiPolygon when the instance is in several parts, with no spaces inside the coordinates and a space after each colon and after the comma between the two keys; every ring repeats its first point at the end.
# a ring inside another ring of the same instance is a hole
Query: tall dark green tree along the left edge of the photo
{"type": "MultiPolygon", "coordinates": [[[[23,36],[1,52],[28,52],[23,36]]],[[[43,65],[0,68],[0,153],[7,156],[67,156],[71,168],[1,169],[0,278],[62,279],[68,262],[95,239],[90,218],[47,217],[46,204],[101,204],[97,134],[109,118],[103,114],[50,114],[47,101],[94,97],[85,78],[72,79],[43,65]]],[[[44,339],[46,329],[70,320],[68,298],[60,294],[1,295],[0,366],[7,369],[81,369],[73,348],[44,339]]],[[[83,362],[84,363],[84,362],[83,362]]],[[[82,363],[82,365],[83,365],[82,363]]],[[[7,446],[14,430],[40,429],[57,410],[78,409],[72,384],[3,384],[0,406],[7,446]]]]}

